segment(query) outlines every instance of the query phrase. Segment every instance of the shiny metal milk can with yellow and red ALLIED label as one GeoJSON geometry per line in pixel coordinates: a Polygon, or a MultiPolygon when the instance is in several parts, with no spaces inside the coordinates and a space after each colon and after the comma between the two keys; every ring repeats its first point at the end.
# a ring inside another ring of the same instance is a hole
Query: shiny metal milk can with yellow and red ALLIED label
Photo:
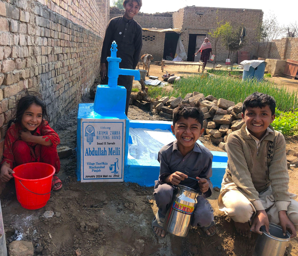
{"type": "Polygon", "coordinates": [[[192,188],[177,185],[171,207],[165,217],[167,232],[176,236],[185,237],[190,227],[190,218],[200,193],[192,188]]]}

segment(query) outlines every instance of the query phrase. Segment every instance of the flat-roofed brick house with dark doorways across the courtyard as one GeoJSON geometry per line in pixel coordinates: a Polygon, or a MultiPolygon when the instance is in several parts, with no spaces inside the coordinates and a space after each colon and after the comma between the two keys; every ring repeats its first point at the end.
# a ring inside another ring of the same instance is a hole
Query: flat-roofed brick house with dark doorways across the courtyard
{"type": "MultiPolygon", "coordinates": [[[[110,18],[120,16],[123,13],[124,10],[111,8],[110,18]]],[[[254,29],[263,19],[262,10],[187,6],[173,13],[138,13],[134,19],[143,28],[141,53],[152,54],[154,60],[165,58],[170,51],[175,54],[179,34],[167,30],[170,28],[179,30],[187,54],[187,61],[196,60],[194,53],[201,46],[208,33],[216,29],[218,22],[221,21],[231,24],[243,23],[246,27],[247,43],[241,50],[249,52],[249,59],[258,57],[258,43],[256,43],[254,29]]],[[[214,47],[214,41],[210,36],[208,37],[211,44],[213,43],[212,47],[214,47]]],[[[228,51],[221,46],[220,41],[217,43],[216,52],[217,61],[224,62],[228,56],[228,51]]]]}

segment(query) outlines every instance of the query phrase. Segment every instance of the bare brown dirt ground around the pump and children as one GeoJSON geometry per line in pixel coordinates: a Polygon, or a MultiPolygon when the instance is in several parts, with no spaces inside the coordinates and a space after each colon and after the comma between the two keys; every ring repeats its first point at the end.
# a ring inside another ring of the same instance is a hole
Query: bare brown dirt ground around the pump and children
{"type": "MultiPolygon", "coordinates": [[[[161,76],[160,66],[151,65],[150,75],[161,76]],[[153,71],[156,70],[156,71],[153,71]]],[[[197,72],[197,68],[170,66],[164,71],[175,74],[197,72]]],[[[161,77],[160,77],[161,78],[161,77]]],[[[147,79],[147,78],[146,78],[147,79]]],[[[297,86],[297,85],[296,85],[297,86]]],[[[92,102],[84,98],[83,102],[92,102]]],[[[167,234],[157,238],[151,221],[157,211],[153,187],[135,183],[81,183],[77,181],[76,129],[77,109],[64,116],[55,125],[61,145],[72,148],[72,155],[61,159],[58,177],[63,182],[59,191],[51,193],[50,200],[41,209],[26,210],[16,199],[14,181],[11,180],[1,194],[2,214],[7,246],[13,235],[23,234],[22,240],[31,241],[34,255],[101,256],[101,255],[205,255],[249,256],[257,236],[248,239],[235,232],[233,222],[218,211],[218,189],[209,199],[214,209],[217,234],[207,237],[199,228],[191,227],[187,237],[167,234]],[[54,211],[52,218],[44,218],[45,211],[54,211]]],[[[130,106],[129,119],[159,120],[158,115],[130,106]]],[[[164,120],[164,119],[163,119],[164,120]]],[[[287,137],[287,152],[298,152],[298,137],[287,137]]],[[[207,148],[217,147],[202,138],[207,148]]],[[[298,194],[296,166],[289,170],[290,191],[298,194]]],[[[157,177],[156,177],[157,178],[157,177]]],[[[298,240],[291,239],[285,255],[297,255],[298,240]]]]}

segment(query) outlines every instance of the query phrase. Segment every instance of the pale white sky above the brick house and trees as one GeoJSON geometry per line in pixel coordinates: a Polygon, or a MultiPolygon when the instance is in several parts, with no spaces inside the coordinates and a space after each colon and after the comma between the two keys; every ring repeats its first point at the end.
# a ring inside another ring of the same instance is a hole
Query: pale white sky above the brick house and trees
{"type": "MultiPolygon", "coordinates": [[[[203,6],[203,7],[226,7],[226,8],[243,8],[243,9],[261,9],[264,16],[273,13],[280,25],[288,25],[297,21],[298,1],[264,1],[264,0],[247,0],[247,1],[198,1],[198,0],[142,0],[141,12],[143,13],[164,13],[177,11],[185,6],[203,6]]],[[[113,5],[113,0],[110,0],[113,5]]]]}

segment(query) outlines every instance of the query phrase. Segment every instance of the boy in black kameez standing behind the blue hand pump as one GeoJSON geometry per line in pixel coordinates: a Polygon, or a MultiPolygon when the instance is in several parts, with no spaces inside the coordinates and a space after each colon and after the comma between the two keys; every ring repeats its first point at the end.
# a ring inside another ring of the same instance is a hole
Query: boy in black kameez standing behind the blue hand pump
{"type": "MultiPolygon", "coordinates": [[[[105,30],[103,48],[101,51],[100,76],[101,84],[108,84],[108,62],[111,56],[111,44],[117,43],[117,57],[121,58],[119,68],[135,69],[139,62],[142,49],[142,27],[133,19],[142,6],[142,0],[124,0],[125,13],[123,16],[113,18],[109,21],[105,30]]],[[[119,75],[118,85],[126,88],[125,114],[128,113],[133,76],[119,75]]]]}

